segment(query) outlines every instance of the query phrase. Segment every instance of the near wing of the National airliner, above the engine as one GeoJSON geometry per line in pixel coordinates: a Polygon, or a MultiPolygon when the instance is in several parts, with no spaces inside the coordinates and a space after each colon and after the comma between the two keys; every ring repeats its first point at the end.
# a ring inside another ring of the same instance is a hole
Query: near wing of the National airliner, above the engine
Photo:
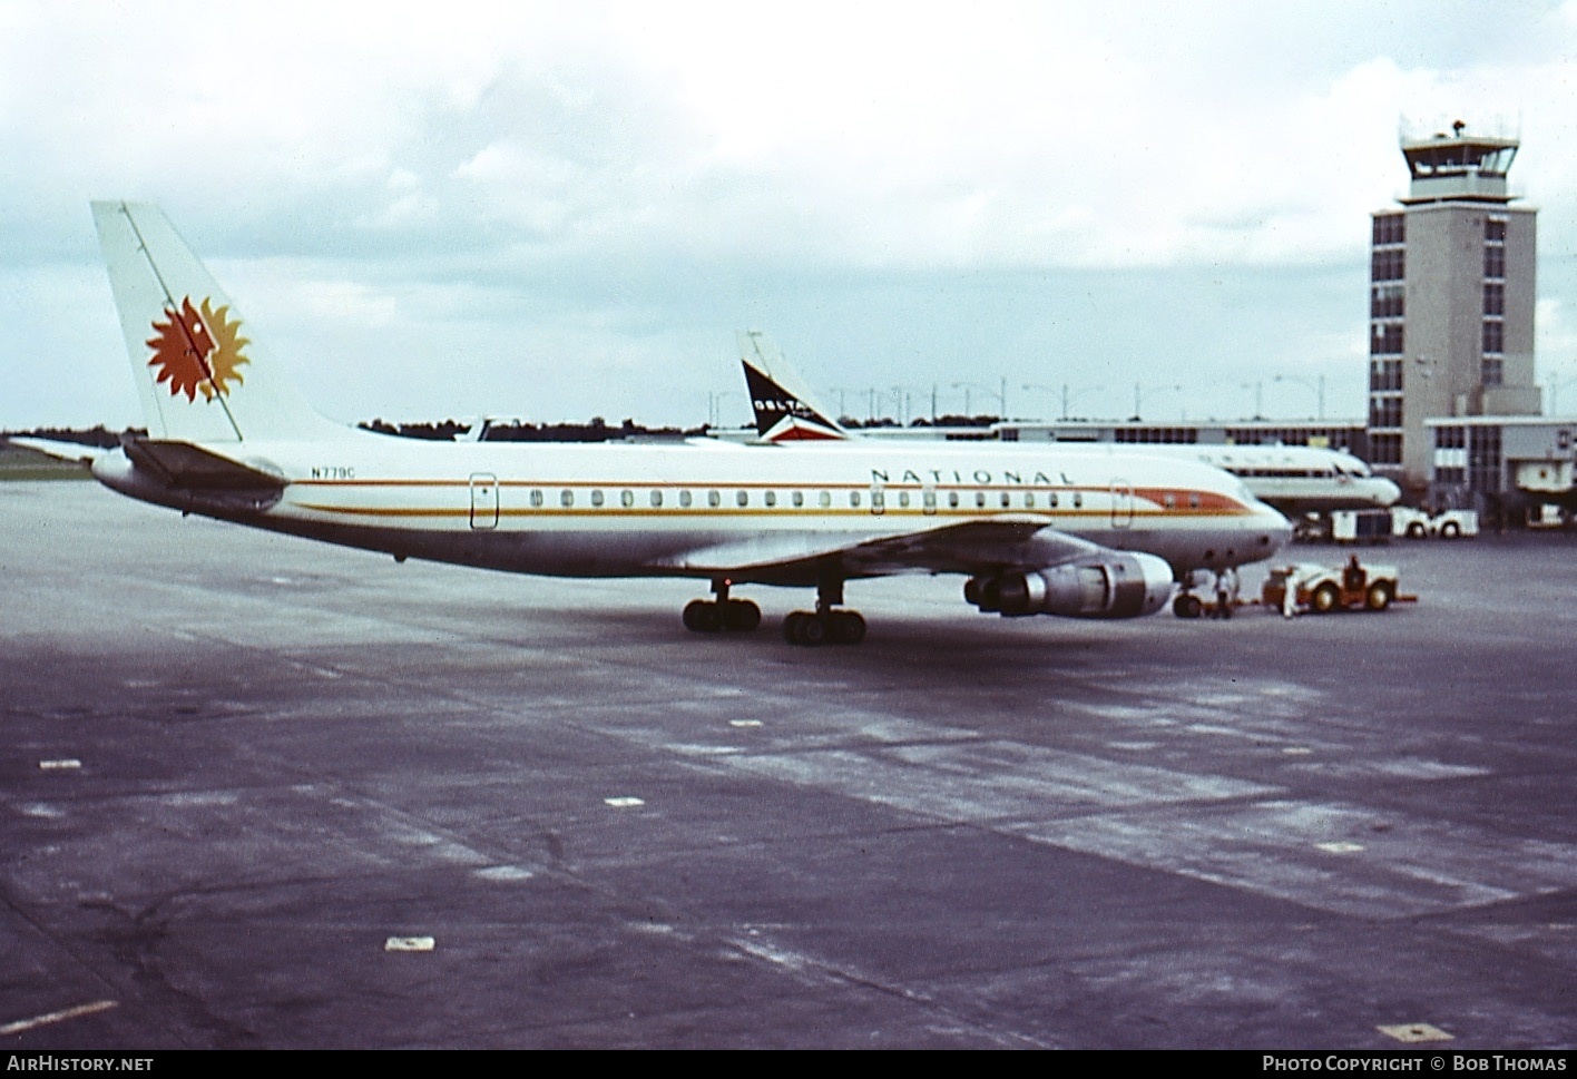
{"type": "Polygon", "coordinates": [[[845,577],[900,573],[982,574],[1050,566],[1112,554],[1052,527],[1038,514],[1001,514],[935,528],[848,540],[837,535],[760,535],[686,552],[665,568],[763,584],[815,582],[828,568],[845,577]]]}

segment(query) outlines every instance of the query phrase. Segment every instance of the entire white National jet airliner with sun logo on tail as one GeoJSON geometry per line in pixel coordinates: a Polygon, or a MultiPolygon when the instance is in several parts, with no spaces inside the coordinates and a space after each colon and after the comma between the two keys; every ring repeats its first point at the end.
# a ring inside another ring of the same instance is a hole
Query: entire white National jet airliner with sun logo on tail
{"type": "Polygon", "coordinates": [[[93,203],[147,437],[93,459],[126,495],[219,521],[563,577],[695,577],[697,633],[754,629],[736,585],[817,590],[784,620],[853,644],[844,582],[960,574],[978,609],[1123,618],[1173,579],[1269,557],[1287,521],[1197,462],[1101,450],[886,445],[858,451],[402,440],[328,421],[268,361],[229,297],[150,205],[93,203]]]}

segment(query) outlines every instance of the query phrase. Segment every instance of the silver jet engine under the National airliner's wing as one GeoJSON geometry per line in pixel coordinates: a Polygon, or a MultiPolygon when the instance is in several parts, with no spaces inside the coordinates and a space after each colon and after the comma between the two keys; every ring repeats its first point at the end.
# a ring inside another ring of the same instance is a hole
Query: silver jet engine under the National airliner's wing
{"type": "Polygon", "coordinates": [[[1031,573],[971,577],[964,598],[1005,618],[1052,614],[1064,618],[1137,618],[1172,599],[1172,566],[1150,554],[1069,562],[1031,573]]]}

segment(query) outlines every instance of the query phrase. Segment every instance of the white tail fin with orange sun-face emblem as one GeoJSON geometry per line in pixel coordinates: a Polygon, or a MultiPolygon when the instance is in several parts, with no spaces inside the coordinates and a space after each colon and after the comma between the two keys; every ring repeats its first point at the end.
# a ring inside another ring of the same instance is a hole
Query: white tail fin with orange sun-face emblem
{"type": "Polygon", "coordinates": [[[164,213],[95,202],[148,434],[183,442],[344,435],[246,336],[244,320],[164,213]]]}

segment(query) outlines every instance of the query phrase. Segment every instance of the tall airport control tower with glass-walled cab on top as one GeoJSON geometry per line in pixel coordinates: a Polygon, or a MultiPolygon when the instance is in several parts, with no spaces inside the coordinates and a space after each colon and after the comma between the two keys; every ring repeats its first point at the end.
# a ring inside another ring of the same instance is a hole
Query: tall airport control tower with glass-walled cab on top
{"type": "Polygon", "coordinates": [[[1402,137],[1400,210],[1374,216],[1369,273],[1369,454],[1421,489],[1435,446],[1426,420],[1538,415],[1533,371],[1538,211],[1511,205],[1519,140],[1402,137]]]}

